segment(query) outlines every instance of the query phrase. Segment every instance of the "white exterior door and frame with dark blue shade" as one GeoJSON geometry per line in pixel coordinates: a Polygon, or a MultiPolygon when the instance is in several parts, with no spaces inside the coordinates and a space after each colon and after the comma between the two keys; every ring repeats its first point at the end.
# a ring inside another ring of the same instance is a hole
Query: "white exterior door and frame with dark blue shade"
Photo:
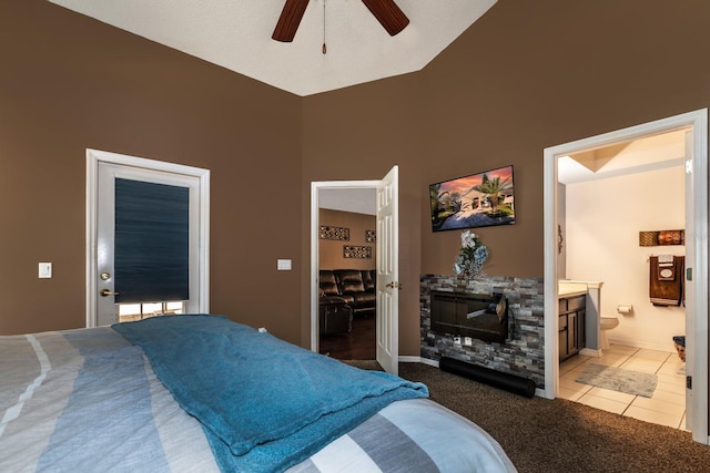
{"type": "Polygon", "coordinates": [[[182,312],[207,312],[209,202],[204,200],[209,196],[209,171],[89,150],[87,326],[119,321],[114,278],[116,179],[184,191],[189,199],[189,297],[183,300],[182,312]]]}

